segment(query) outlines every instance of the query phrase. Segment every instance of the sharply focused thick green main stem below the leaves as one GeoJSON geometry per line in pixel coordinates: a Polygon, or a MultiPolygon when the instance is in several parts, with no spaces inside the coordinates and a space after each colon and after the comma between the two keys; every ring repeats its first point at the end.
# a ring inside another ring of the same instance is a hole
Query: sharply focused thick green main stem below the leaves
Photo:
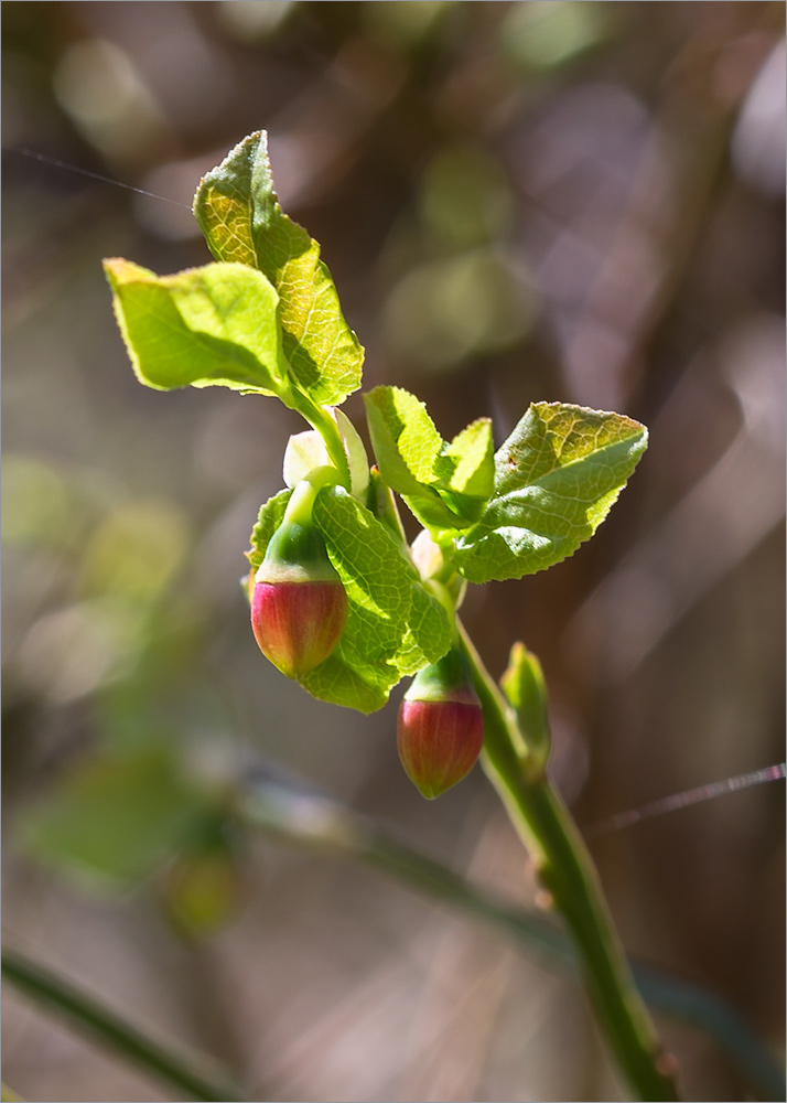
{"type": "Polygon", "coordinates": [[[672,1059],[650,1016],[610,914],[599,876],[568,808],[527,750],[511,709],[460,625],[484,710],[482,764],[527,846],[539,881],[563,915],[587,988],[621,1069],[642,1100],[678,1100],[672,1059]]]}

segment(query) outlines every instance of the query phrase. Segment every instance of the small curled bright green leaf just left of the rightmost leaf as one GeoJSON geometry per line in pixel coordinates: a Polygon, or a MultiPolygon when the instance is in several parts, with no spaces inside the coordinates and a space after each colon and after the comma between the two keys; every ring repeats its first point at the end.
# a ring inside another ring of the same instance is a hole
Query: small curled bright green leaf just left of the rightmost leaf
{"type": "Polygon", "coordinates": [[[479,418],[449,445],[414,395],[375,387],[365,395],[380,474],[432,531],[478,520],[494,485],[492,427],[479,418]]]}

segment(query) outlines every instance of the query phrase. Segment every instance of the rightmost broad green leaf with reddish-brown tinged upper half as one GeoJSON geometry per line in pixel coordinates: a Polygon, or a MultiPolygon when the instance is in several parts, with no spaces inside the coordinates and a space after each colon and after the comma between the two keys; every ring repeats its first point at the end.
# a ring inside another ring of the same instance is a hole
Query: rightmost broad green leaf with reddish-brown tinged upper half
{"type": "Polygon", "coordinates": [[[573,555],[606,517],[646,447],[645,426],[619,414],[533,404],[495,457],[495,492],[456,542],[457,569],[487,582],[573,555]]]}

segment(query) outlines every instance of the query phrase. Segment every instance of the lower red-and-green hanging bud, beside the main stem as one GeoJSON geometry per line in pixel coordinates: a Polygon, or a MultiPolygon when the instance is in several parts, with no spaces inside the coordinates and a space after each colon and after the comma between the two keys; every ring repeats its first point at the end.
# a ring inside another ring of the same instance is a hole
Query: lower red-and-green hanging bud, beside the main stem
{"type": "Polygon", "coordinates": [[[484,742],[481,702],[467,660],[453,649],[420,671],[399,708],[399,758],[428,800],[470,773],[484,742]]]}

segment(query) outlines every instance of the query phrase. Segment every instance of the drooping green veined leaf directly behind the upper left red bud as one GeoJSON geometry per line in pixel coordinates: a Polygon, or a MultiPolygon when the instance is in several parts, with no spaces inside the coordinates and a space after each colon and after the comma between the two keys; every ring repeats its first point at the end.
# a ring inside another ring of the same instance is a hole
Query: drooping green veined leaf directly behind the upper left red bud
{"type": "MultiPolygon", "coordinates": [[[[251,542],[252,570],[262,561],[291,491],[260,510],[251,542]]],[[[341,488],[321,491],[314,522],[339,574],[348,615],[333,653],[308,674],[315,697],[371,713],[406,674],[434,662],[451,643],[448,617],[386,526],[341,488]]]]}

